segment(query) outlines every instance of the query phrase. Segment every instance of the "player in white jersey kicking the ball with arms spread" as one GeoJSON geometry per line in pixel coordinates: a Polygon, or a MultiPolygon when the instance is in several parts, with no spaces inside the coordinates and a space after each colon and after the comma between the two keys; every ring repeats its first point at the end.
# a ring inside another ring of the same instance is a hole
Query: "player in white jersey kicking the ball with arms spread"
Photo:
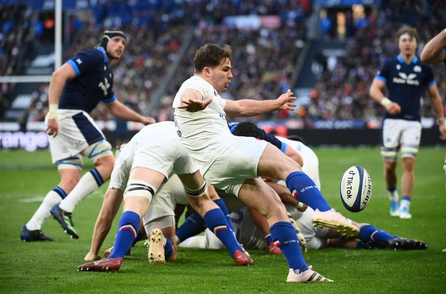
{"type": "Polygon", "coordinates": [[[293,110],[295,105],[290,101],[296,98],[289,90],[275,100],[221,98],[219,92],[227,90],[232,78],[230,58],[229,46],[206,44],[197,50],[195,74],[181,85],[173,101],[181,143],[205,179],[268,218],[274,242],[288,262],[287,282],[330,282],[306,265],[285,207],[259,176],[286,180],[288,188],[299,192],[299,197],[328,218],[336,217],[330,206],[299,164],[264,141],[233,136],[225,119],[226,114],[254,116],[278,109],[293,110]]]}

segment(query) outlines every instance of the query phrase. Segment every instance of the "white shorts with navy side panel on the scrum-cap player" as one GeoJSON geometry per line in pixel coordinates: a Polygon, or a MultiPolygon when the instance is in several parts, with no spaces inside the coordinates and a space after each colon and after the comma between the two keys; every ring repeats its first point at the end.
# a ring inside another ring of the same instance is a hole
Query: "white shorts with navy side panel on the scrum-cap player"
{"type": "MultiPolygon", "coordinates": [[[[74,109],[57,110],[57,136],[49,136],[50,152],[53,163],[76,157],[80,152],[105,136],[87,112],[74,109]]],[[[48,117],[45,118],[45,125],[48,117]]]]}

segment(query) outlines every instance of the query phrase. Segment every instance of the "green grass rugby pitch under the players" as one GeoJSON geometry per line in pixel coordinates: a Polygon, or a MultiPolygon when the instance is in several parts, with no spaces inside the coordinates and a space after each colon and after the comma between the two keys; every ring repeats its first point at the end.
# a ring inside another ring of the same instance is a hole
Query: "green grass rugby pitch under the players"
{"type": "MultiPolygon", "coordinates": [[[[0,292],[2,293],[445,293],[446,192],[444,149],[421,148],[410,220],[388,214],[388,198],[378,148],[315,149],[319,155],[322,192],[336,209],[358,222],[390,233],[419,238],[424,251],[323,249],[304,253],[333,284],[285,283],[283,257],[250,250],[255,265],[236,267],[224,250],[180,248],[178,259],[151,266],[142,243],[132,250],[117,274],[76,272],[90,247],[91,234],[106,187],[82,201],[73,214],[79,240],[64,235],[53,219],[43,231],[53,243],[22,243],[19,233],[45,194],[58,181],[47,151],[0,152],[0,292]],[[370,173],[373,192],[368,207],[350,213],[342,207],[338,185],[352,165],[370,173]],[[32,166],[32,169],[29,167],[32,166]]],[[[400,171],[399,171],[400,173],[400,171]]],[[[115,219],[103,249],[112,244],[115,219]]]]}

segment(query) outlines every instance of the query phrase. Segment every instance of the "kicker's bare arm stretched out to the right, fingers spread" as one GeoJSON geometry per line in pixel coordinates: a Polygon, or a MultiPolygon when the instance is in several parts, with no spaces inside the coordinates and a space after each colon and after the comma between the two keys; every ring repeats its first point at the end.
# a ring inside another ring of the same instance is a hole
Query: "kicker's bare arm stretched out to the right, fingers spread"
{"type": "Polygon", "coordinates": [[[229,116],[255,116],[279,109],[294,110],[296,104],[291,101],[296,100],[291,90],[279,96],[274,100],[253,100],[242,99],[237,101],[226,100],[224,112],[229,116]]]}

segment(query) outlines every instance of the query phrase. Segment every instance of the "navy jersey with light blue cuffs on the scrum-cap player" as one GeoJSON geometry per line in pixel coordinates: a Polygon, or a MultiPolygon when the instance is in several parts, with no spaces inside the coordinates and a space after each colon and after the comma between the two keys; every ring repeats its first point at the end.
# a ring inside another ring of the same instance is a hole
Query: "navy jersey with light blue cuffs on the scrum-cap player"
{"type": "Polygon", "coordinates": [[[116,100],[113,73],[102,47],[81,51],[68,63],[76,77],[67,80],[59,99],[59,109],[79,109],[87,113],[99,102],[116,100]]]}

